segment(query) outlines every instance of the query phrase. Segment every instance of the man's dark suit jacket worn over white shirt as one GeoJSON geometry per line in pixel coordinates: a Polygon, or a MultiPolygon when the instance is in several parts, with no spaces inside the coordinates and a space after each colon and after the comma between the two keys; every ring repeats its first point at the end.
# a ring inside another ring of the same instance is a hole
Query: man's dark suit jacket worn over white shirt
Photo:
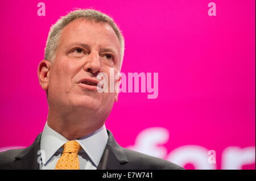
{"type": "MultiPolygon", "coordinates": [[[[122,148],[114,140],[112,133],[108,131],[109,140],[106,145],[104,154],[97,169],[126,169],[126,170],[151,170],[151,169],[183,169],[174,163],[168,162],[164,159],[151,157],[137,151],[122,148]],[[106,151],[109,150],[109,151],[106,151]],[[108,154],[106,154],[108,153],[108,154]],[[108,158],[106,166],[104,159],[108,158]]],[[[26,149],[8,150],[0,153],[0,169],[32,169],[38,170],[38,150],[40,150],[40,133],[36,137],[34,143],[26,149]]]]}

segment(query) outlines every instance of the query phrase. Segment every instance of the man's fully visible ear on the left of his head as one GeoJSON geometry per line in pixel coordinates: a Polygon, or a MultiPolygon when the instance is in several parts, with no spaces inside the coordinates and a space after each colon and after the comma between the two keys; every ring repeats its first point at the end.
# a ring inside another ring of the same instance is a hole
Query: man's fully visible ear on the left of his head
{"type": "Polygon", "coordinates": [[[49,74],[51,70],[51,62],[48,60],[42,60],[38,66],[38,78],[40,86],[43,90],[47,91],[49,86],[49,74]]]}

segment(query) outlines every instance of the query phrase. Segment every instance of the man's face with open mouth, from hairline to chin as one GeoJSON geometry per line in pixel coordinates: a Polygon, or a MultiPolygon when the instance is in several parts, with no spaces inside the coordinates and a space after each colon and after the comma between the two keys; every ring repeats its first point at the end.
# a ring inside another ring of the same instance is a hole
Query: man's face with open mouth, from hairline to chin
{"type": "Polygon", "coordinates": [[[110,68],[118,73],[120,44],[113,28],[76,19],[61,32],[55,57],[49,73],[49,107],[109,115],[117,92],[98,92],[88,82],[96,83],[98,73],[110,78],[110,68]]]}

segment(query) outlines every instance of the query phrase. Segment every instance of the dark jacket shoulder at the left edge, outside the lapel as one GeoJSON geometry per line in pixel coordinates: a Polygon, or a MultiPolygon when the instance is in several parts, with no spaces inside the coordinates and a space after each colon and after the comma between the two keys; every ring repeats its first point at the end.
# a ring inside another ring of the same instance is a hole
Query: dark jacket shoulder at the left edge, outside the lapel
{"type": "Polygon", "coordinates": [[[7,150],[0,153],[0,169],[10,169],[11,163],[15,161],[16,155],[24,149],[7,150]]]}

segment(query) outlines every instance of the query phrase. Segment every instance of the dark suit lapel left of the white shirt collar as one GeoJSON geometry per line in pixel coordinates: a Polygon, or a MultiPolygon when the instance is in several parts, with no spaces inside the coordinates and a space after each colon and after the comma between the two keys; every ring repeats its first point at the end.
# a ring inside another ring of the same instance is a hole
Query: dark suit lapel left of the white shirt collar
{"type": "Polygon", "coordinates": [[[11,164],[11,169],[14,170],[39,170],[38,158],[40,157],[40,140],[42,133],[40,133],[34,143],[21,153],[16,155],[14,163],[11,164]]]}

